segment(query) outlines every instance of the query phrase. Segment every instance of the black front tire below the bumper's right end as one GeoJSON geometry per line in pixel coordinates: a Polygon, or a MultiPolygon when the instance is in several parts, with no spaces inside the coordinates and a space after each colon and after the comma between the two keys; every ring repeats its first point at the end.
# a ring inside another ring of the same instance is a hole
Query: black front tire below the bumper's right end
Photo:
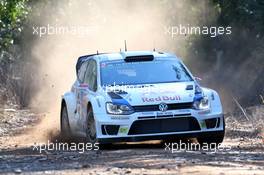
{"type": "Polygon", "coordinates": [[[215,135],[212,135],[210,137],[197,137],[197,141],[199,144],[221,144],[224,140],[224,137],[225,137],[225,119],[223,118],[223,127],[224,127],[224,130],[215,134],[215,135]]]}

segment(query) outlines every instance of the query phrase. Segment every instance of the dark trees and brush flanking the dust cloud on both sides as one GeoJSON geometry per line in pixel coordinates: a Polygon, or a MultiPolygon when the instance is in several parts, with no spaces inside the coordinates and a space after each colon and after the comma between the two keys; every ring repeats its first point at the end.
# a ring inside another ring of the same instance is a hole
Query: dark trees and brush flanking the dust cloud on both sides
{"type": "MultiPolygon", "coordinates": [[[[70,1],[63,0],[65,4],[70,1]]],[[[172,7],[176,2],[164,0],[149,3],[168,6],[168,23],[175,23],[177,12],[172,7]]],[[[237,99],[243,107],[263,104],[264,2],[205,0],[202,5],[197,3],[196,0],[188,1],[188,8],[191,9],[188,13],[198,15],[201,26],[231,26],[232,34],[214,38],[202,35],[189,37],[186,54],[188,65],[204,79],[206,85],[221,93],[226,106],[230,103],[236,106],[232,98],[227,100],[229,97],[237,99]]],[[[31,55],[32,46],[38,38],[32,35],[32,26],[38,23],[33,16],[53,17],[52,14],[43,14],[45,8],[63,10],[57,1],[0,1],[1,103],[27,107],[38,90],[39,63],[31,55]]]]}

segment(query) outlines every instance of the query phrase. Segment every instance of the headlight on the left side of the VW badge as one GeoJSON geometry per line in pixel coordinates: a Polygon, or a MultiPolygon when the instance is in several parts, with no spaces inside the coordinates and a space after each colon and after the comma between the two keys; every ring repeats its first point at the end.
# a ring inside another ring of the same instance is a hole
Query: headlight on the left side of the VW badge
{"type": "Polygon", "coordinates": [[[133,108],[129,105],[114,104],[112,102],[107,102],[106,112],[108,114],[115,114],[115,115],[129,115],[132,114],[134,111],[133,108]]]}

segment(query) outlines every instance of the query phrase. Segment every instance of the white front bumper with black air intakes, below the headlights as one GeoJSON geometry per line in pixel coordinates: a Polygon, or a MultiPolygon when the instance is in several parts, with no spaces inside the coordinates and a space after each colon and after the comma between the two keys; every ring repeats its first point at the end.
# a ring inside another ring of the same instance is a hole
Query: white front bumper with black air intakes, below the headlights
{"type": "Polygon", "coordinates": [[[124,116],[97,114],[96,128],[102,143],[213,136],[224,132],[224,115],[193,109],[124,116]]]}

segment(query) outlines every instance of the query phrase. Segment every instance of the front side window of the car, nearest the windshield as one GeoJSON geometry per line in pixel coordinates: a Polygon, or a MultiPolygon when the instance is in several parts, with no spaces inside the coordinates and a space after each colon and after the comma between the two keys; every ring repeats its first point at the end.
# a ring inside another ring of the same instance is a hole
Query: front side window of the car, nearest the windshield
{"type": "Polygon", "coordinates": [[[92,91],[97,89],[97,65],[96,61],[90,60],[88,63],[87,71],[85,73],[84,83],[88,84],[88,87],[92,91]]]}

